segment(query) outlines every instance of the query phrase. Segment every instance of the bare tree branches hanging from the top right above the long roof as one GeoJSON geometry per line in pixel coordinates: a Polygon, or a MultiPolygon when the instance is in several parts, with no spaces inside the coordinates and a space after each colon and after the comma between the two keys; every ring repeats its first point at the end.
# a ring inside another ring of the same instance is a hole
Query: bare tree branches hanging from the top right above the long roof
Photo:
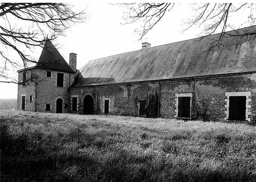
{"type": "MultiPolygon", "coordinates": [[[[128,9],[125,12],[126,23],[134,23],[141,20],[143,22],[142,29],[138,31],[140,40],[145,34],[148,33],[168,12],[171,11],[175,6],[172,3],[132,3],[132,4],[119,4],[128,9]]],[[[218,40],[215,40],[213,46],[218,46],[221,37],[225,34],[226,28],[229,26],[228,19],[233,12],[241,11],[246,9],[250,11],[248,21],[251,25],[255,25],[255,4],[244,3],[244,4],[232,4],[232,3],[221,3],[221,4],[191,4],[193,12],[195,13],[192,19],[186,22],[187,27],[185,30],[192,26],[204,26],[205,34],[211,35],[216,33],[216,30],[220,29],[220,36],[218,40]]],[[[175,18],[175,17],[173,17],[175,18]]],[[[232,27],[231,27],[232,28],[232,27]]],[[[244,36],[254,35],[256,30],[251,32],[237,32],[231,36],[244,36]]]]}

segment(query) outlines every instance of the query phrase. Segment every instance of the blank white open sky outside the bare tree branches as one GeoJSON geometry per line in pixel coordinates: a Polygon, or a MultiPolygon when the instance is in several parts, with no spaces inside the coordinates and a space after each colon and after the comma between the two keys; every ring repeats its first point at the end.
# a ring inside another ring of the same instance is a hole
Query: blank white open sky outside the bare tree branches
{"type": "MultiPolygon", "coordinates": [[[[86,7],[87,4],[75,4],[75,8],[86,7]]],[[[86,8],[89,19],[85,23],[79,23],[53,42],[60,44],[60,54],[68,63],[69,53],[77,54],[77,69],[81,68],[89,60],[107,57],[124,52],[134,51],[141,48],[142,42],[151,43],[151,47],[172,42],[178,42],[199,37],[202,28],[191,27],[182,34],[186,28],[184,22],[191,18],[193,11],[187,4],[179,4],[166,14],[161,22],[146,34],[142,41],[140,36],[134,32],[141,24],[124,24],[124,9],[118,5],[108,3],[90,3],[86,8]]],[[[241,14],[232,16],[230,19],[236,24],[241,14]]],[[[248,25],[249,26],[249,25],[248,25]]],[[[243,25],[242,27],[246,27],[243,25]]],[[[33,57],[38,60],[42,48],[36,49],[33,57]]],[[[14,72],[18,77],[18,73],[14,72]]],[[[17,98],[17,84],[0,83],[0,98],[17,98]]]]}

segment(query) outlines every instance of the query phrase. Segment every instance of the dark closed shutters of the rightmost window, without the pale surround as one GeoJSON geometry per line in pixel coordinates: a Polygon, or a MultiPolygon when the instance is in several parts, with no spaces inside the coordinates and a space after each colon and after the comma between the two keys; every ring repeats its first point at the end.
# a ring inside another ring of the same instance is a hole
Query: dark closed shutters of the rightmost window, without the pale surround
{"type": "Polygon", "coordinates": [[[246,96],[229,96],[229,120],[245,120],[246,96]]]}

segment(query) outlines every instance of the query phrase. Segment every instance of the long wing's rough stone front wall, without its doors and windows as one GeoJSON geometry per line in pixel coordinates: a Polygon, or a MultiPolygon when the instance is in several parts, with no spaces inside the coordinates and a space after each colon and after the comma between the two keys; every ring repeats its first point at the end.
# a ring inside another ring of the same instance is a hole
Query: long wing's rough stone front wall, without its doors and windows
{"type": "MultiPolygon", "coordinates": [[[[160,117],[175,118],[177,93],[191,93],[191,119],[225,121],[226,92],[251,92],[250,121],[256,122],[256,76],[255,74],[232,77],[219,77],[211,80],[188,80],[177,82],[160,82],[160,117]]],[[[78,96],[78,111],[83,114],[83,99],[91,95],[94,101],[94,114],[104,114],[104,101],[109,100],[109,114],[138,115],[138,101],[146,100],[147,106],[153,104],[146,117],[156,117],[158,109],[159,84],[124,84],[121,86],[95,86],[91,88],[70,88],[70,95],[78,96]],[[154,112],[155,114],[152,114],[154,112]]],[[[71,97],[69,95],[69,100],[71,97]]],[[[147,108],[149,110],[149,108],[147,108]]],[[[69,111],[71,112],[70,108],[69,111]]]]}

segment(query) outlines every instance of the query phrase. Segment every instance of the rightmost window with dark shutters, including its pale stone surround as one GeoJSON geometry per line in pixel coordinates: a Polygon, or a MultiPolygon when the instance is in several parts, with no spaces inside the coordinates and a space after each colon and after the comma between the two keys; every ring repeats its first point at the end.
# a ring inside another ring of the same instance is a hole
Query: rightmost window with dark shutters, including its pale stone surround
{"type": "Polygon", "coordinates": [[[225,120],[251,121],[251,92],[226,92],[225,120]]]}

